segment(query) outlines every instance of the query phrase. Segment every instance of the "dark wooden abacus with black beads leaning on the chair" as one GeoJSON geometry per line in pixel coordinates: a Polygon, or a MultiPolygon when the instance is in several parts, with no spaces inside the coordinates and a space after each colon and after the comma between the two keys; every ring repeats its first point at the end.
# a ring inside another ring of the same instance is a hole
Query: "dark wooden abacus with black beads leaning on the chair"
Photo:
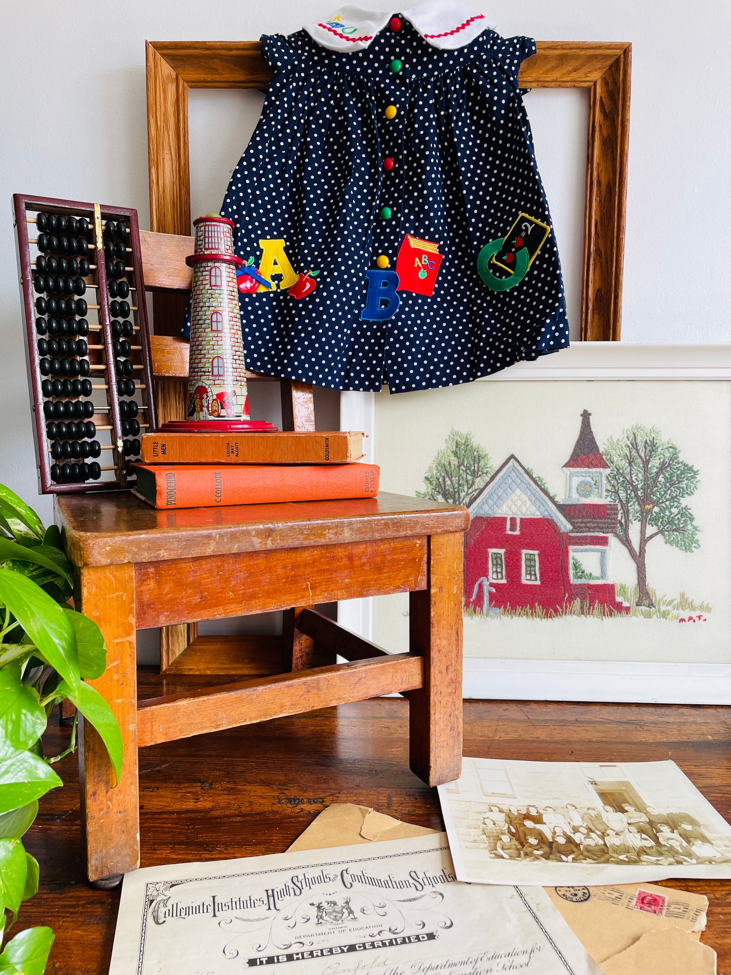
{"type": "Polygon", "coordinates": [[[40,490],[132,487],[157,429],[137,213],[19,193],[13,208],[40,490]]]}

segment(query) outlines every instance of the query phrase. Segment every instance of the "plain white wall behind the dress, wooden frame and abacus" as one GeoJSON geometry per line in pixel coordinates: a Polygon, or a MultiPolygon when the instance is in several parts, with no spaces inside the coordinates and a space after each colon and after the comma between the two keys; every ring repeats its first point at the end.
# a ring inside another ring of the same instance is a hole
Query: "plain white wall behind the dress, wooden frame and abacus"
{"type": "MultiPolygon", "coordinates": [[[[20,331],[13,192],[136,207],[149,225],[144,40],[249,40],[297,29],[325,0],[0,0],[0,481],[48,522],[36,494],[20,331]]],[[[384,0],[373,0],[384,8],[384,0]]],[[[731,4],[514,0],[473,6],[503,34],[634,44],[623,334],[725,341],[731,297],[731,4]]],[[[193,215],[217,209],[261,97],[191,93],[193,215]]],[[[574,326],[583,219],[586,94],[527,99],[557,225],[574,326]]],[[[262,408],[264,405],[262,404],[262,408]]]]}

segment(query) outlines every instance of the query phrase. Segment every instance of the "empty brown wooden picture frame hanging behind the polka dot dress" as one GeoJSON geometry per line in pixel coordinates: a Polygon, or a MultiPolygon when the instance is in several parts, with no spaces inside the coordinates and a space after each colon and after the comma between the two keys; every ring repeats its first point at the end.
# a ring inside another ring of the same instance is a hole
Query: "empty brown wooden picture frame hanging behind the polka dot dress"
{"type": "MultiPolygon", "coordinates": [[[[588,88],[589,126],[580,337],[618,341],[622,324],[632,45],[539,41],[520,67],[522,88],[588,88]]],[[[150,229],[190,233],[189,88],[266,88],[258,41],[148,41],[147,144],[150,229]]],[[[174,334],[179,317],[165,296],[155,331],[174,334]]]]}

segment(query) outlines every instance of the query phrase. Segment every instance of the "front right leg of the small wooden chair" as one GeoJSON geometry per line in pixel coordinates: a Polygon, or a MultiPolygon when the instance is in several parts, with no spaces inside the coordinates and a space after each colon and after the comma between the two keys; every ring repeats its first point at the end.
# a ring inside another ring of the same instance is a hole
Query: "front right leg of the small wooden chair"
{"type": "Polygon", "coordinates": [[[432,535],[425,590],[409,594],[409,649],[424,657],[424,686],[409,692],[409,764],[430,786],[462,771],[461,532],[432,535]]]}

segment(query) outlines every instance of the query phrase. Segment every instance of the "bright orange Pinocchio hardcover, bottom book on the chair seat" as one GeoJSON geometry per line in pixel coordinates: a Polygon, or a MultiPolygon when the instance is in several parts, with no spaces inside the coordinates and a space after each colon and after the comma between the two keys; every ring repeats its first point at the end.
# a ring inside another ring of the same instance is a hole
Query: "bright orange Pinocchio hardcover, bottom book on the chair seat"
{"type": "MultiPolygon", "coordinates": [[[[255,436],[258,436],[256,434],[255,436]]],[[[226,504],[326,501],[374,497],[375,464],[279,467],[239,464],[135,464],[137,497],[155,508],[212,508],[226,504]]]]}

